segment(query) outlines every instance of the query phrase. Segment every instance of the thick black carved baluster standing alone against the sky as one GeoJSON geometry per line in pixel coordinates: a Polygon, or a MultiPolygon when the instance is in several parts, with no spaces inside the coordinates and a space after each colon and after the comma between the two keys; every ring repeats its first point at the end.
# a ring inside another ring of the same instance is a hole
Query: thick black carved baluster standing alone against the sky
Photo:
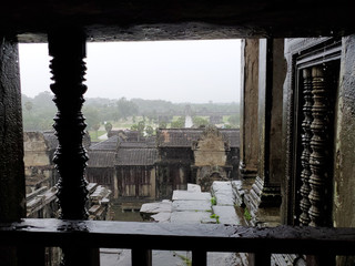
{"type": "Polygon", "coordinates": [[[51,90],[58,108],[54,117],[59,146],[53,162],[60,174],[58,198],[63,219],[87,219],[88,198],[84,167],[87,152],[82,145],[84,117],[81,108],[87,86],[82,84],[85,74],[85,37],[81,31],[63,30],[49,34],[50,69],[53,74],[51,90]]]}

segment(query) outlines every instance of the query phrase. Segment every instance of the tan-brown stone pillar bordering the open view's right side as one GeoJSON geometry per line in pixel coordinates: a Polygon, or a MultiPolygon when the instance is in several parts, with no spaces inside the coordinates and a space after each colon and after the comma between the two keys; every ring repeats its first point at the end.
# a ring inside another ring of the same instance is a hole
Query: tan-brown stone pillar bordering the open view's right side
{"type": "Polygon", "coordinates": [[[251,190],[257,173],[258,39],[242,40],[240,176],[251,190]]]}

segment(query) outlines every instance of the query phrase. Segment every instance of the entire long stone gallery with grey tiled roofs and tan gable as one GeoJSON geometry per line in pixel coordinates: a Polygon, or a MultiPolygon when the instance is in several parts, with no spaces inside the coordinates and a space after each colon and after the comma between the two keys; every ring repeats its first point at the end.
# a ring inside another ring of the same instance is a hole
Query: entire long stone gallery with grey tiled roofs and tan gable
{"type": "MultiPolygon", "coordinates": [[[[128,134],[130,132],[128,131],[128,134]]],[[[145,141],[112,136],[89,150],[87,176],[110,187],[119,202],[170,198],[187,183],[236,180],[239,130],[158,130],[145,141]]]]}

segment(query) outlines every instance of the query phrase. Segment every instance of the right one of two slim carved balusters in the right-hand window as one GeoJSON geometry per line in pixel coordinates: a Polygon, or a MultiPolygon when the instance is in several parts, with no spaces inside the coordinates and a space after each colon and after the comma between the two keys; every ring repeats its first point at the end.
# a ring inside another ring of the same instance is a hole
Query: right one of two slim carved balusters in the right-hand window
{"type": "Polygon", "coordinates": [[[312,175],[310,177],[311,193],[311,226],[322,226],[325,223],[326,207],[326,178],[327,178],[327,131],[329,130],[328,121],[328,96],[322,65],[312,68],[313,100],[312,115],[314,117],[311,124],[313,136],[311,139],[312,154],[310,166],[312,175]]]}

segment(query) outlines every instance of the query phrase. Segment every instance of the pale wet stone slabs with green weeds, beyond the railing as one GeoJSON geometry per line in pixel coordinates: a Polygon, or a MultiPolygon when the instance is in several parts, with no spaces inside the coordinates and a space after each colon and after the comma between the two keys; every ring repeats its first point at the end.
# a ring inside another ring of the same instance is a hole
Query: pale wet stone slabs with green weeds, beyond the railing
{"type": "MultiPolygon", "coordinates": [[[[211,193],[201,192],[195,184],[187,184],[187,191],[174,191],[172,201],[146,203],[141,207],[144,221],[156,223],[222,223],[241,224],[234,204],[235,193],[231,182],[214,182],[211,193]],[[212,195],[211,195],[212,193],[212,195]]],[[[191,252],[153,250],[155,266],[184,266],[191,263],[191,252]]],[[[101,265],[130,265],[128,249],[101,249],[101,265]]],[[[207,266],[243,265],[235,253],[207,253],[207,266]]]]}

